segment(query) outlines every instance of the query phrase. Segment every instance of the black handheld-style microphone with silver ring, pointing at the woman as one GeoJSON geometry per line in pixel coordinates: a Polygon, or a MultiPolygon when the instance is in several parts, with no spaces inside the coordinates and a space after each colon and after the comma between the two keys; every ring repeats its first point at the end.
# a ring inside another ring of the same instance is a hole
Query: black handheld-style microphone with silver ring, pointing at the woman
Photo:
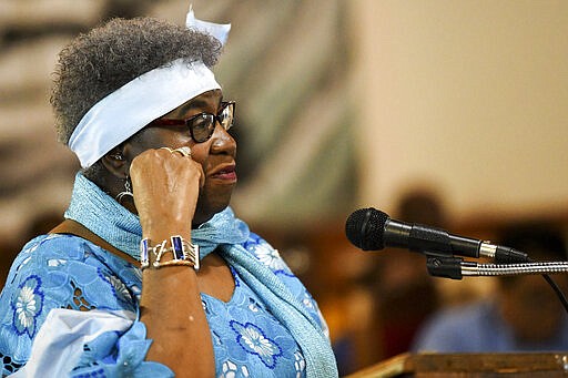
{"type": "Polygon", "coordinates": [[[509,247],[449,234],[444,229],[392,219],[373,208],[359,208],[345,223],[349,242],[363,251],[405,248],[438,256],[490,257],[497,264],[526,263],[527,254],[509,247]]]}

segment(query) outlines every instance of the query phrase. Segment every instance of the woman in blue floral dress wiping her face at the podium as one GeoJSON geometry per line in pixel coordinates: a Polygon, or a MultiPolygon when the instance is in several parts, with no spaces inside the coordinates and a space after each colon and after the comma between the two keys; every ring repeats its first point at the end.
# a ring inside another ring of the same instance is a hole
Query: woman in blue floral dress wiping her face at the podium
{"type": "Polygon", "coordinates": [[[0,296],[3,375],[337,376],[316,303],[229,207],[227,31],[116,19],[61,52],[57,131],[83,170],[0,296]]]}

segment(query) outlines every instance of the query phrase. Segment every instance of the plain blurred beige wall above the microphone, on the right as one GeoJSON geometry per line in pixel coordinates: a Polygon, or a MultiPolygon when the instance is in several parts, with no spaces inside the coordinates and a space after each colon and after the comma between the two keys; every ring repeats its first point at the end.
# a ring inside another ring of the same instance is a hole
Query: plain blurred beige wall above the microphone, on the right
{"type": "Polygon", "coordinates": [[[416,181],[453,215],[568,210],[568,1],[349,2],[361,202],[416,181]]]}

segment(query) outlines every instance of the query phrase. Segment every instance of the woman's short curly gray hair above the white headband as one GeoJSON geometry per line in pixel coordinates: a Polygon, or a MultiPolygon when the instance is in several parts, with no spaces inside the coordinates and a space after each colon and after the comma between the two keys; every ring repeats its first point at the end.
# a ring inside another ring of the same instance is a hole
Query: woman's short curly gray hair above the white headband
{"type": "Polygon", "coordinates": [[[129,81],[176,59],[212,68],[221,49],[209,34],[153,18],[112,19],[80,34],[60,52],[54,71],[51,105],[59,141],[67,144],[89,109],[129,81]]]}

